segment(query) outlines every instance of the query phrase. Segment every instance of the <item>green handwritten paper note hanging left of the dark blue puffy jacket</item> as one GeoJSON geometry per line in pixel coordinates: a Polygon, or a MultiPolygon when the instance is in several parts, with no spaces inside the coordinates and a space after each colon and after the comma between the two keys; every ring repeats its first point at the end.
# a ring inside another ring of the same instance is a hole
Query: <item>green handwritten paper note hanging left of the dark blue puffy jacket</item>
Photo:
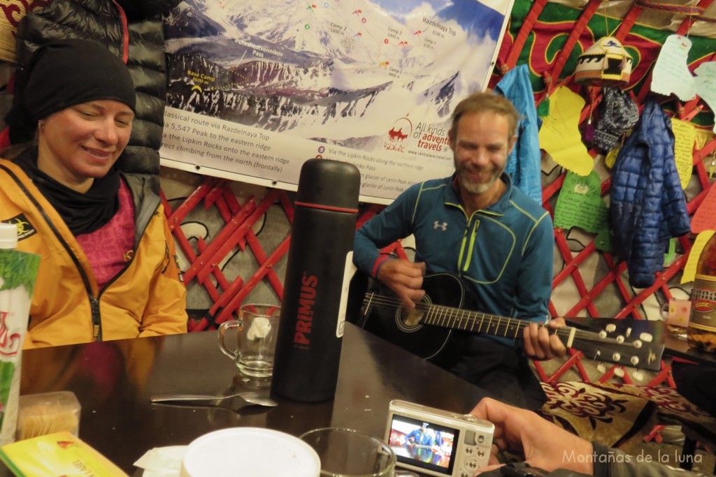
{"type": "Polygon", "coordinates": [[[592,171],[588,176],[581,177],[567,172],[554,209],[554,226],[564,229],[579,227],[596,233],[604,229],[606,217],[599,174],[592,171]]]}

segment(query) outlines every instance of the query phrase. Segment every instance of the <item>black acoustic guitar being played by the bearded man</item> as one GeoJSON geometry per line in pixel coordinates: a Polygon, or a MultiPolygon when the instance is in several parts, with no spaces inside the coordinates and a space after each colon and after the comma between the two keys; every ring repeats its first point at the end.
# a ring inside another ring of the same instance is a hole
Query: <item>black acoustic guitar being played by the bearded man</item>
{"type": "MultiPolygon", "coordinates": [[[[357,324],[411,353],[435,360],[450,348],[455,331],[519,340],[523,328],[533,323],[463,309],[465,287],[449,273],[426,275],[422,288],[425,297],[410,313],[392,292],[367,292],[357,324]]],[[[615,325],[599,333],[571,326],[558,328],[556,333],[568,348],[580,350],[587,358],[652,371],[661,368],[664,344],[656,343],[652,333],[632,333],[632,328],[617,331],[615,325]]]]}

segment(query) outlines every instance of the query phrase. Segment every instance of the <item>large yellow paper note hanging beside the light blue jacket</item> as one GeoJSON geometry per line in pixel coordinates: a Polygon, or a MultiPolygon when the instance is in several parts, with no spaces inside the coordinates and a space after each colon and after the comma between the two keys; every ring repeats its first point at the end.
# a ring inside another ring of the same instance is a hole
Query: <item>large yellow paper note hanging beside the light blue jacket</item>
{"type": "Polygon", "coordinates": [[[579,115],[584,99],[567,87],[558,87],[549,97],[549,115],[539,131],[541,148],[562,167],[581,176],[589,175],[594,159],[587,152],[579,132],[579,115]]]}

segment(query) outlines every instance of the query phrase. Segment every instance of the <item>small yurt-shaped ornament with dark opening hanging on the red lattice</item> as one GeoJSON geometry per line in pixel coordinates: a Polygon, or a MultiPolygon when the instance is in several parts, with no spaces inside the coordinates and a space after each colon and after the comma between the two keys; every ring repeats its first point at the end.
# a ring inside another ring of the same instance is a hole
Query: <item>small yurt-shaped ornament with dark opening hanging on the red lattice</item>
{"type": "Polygon", "coordinates": [[[577,59],[574,81],[594,86],[624,87],[632,76],[632,56],[614,36],[604,36],[577,59]]]}

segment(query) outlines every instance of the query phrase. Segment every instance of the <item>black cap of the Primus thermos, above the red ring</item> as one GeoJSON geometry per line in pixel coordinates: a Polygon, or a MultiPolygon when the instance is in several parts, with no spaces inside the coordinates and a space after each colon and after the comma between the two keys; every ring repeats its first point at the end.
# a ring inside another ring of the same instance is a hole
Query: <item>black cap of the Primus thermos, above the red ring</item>
{"type": "Polygon", "coordinates": [[[359,192],[360,171],[353,164],[309,159],[301,166],[296,202],[357,212],[359,192]]]}

